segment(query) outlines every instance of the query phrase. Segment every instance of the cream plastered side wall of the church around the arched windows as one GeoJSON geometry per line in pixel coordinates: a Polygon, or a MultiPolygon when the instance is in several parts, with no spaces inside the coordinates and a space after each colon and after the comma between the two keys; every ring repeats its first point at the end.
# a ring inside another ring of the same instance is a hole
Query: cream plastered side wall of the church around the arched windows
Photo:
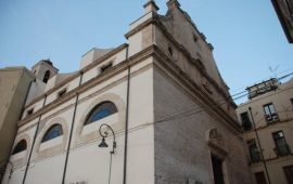
{"type": "MultiPolygon", "coordinates": [[[[153,126],[151,124],[153,122],[153,77],[151,68],[151,58],[131,67],[127,162],[127,183],[129,184],[137,184],[141,181],[154,182],[153,126]]],[[[98,83],[79,95],[65,183],[107,183],[113,137],[111,135],[106,137],[109,148],[98,147],[101,142],[101,136],[98,133],[101,123],[109,123],[116,133],[117,148],[112,157],[111,181],[112,183],[122,183],[126,94],[127,70],[98,83]],[[117,115],[114,114],[91,124],[84,126],[88,113],[99,102],[106,100],[115,103],[118,108],[117,115]]],[[[54,96],[54,93],[51,95],[54,96]]],[[[41,116],[26,183],[61,183],[75,100],[74,97],[41,116]],[[41,143],[43,134],[54,123],[62,124],[64,134],[41,143]]],[[[50,101],[49,97],[47,102],[50,101]]],[[[26,154],[29,153],[37,122],[38,118],[21,126],[18,129],[17,142],[23,135],[29,137],[26,154]]],[[[25,157],[25,160],[20,167],[13,168],[10,179],[10,182],[13,181],[15,184],[22,183],[24,176],[28,155],[23,154],[23,157],[25,157]]],[[[7,170],[4,184],[8,181],[8,174],[9,170],[7,170]]]]}

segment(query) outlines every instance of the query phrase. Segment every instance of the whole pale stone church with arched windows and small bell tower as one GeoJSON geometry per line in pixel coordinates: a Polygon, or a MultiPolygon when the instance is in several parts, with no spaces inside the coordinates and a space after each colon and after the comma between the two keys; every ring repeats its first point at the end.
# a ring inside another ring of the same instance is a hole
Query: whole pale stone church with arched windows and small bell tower
{"type": "Polygon", "coordinates": [[[251,183],[213,45],[177,0],[167,6],[148,1],[127,43],[90,50],[76,73],[33,68],[2,184],[251,183]]]}

